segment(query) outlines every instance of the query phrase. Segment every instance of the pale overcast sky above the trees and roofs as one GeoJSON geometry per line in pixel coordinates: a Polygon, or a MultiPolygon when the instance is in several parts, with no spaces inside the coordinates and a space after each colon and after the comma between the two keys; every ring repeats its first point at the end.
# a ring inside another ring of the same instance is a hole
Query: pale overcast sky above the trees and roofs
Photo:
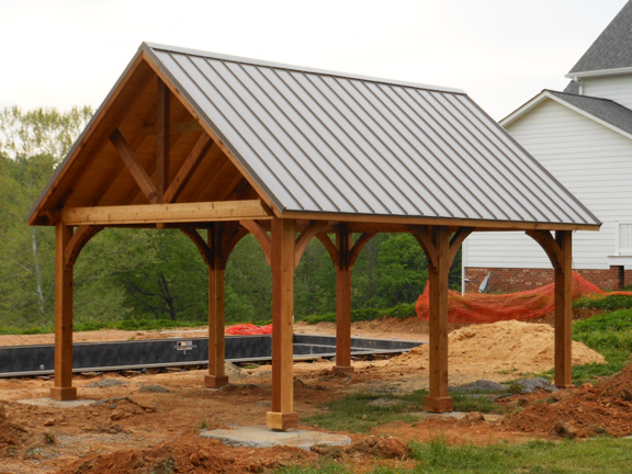
{"type": "Polygon", "coordinates": [[[0,0],[0,109],[99,106],[142,42],[465,90],[561,90],[627,0],[0,0]]]}

